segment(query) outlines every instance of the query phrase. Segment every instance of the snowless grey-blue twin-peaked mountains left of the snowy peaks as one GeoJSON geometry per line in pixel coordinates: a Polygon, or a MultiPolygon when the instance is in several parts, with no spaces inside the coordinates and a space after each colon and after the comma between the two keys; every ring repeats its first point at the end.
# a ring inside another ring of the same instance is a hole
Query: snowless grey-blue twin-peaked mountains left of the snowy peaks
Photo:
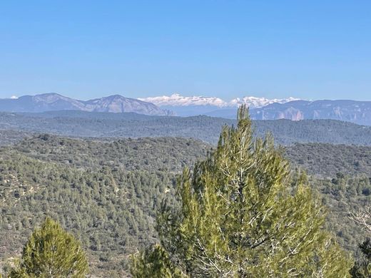
{"type": "Polygon", "coordinates": [[[172,115],[153,103],[125,98],[120,95],[79,101],[61,96],[58,93],[44,93],[36,96],[0,99],[0,111],[9,112],[45,112],[56,110],[81,110],[93,112],[123,113],[133,112],[144,115],[172,115]]]}

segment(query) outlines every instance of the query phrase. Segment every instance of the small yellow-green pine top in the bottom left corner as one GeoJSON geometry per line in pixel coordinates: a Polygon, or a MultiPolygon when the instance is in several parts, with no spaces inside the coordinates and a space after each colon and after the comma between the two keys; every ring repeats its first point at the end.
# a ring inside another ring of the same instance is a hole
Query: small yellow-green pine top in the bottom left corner
{"type": "Polygon", "coordinates": [[[9,277],[85,277],[88,262],[80,243],[59,223],[46,217],[34,230],[9,277]]]}

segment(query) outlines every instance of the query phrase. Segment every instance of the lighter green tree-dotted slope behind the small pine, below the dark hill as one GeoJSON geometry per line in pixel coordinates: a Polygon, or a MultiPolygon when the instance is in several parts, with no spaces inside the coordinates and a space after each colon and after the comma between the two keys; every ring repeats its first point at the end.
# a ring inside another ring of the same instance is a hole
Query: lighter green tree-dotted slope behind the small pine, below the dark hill
{"type": "Polygon", "coordinates": [[[126,256],[154,241],[157,202],[173,194],[163,172],[81,170],[19,154],[1,154],[0,173],[3,267],[48,212],[88,249],[93,273],[120,277],[126,256]]]}

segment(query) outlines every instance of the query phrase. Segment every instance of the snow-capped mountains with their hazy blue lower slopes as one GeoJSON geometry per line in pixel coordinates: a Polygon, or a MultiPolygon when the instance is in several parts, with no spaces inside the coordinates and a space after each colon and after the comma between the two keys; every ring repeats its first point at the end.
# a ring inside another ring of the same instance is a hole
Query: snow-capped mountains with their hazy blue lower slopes
{"type": "MultiPolygon", "coordinates": [[[[138,99],[154,103],[161,108],[172,110],[176,115],[180,116],[215,115],[219,117],[225,117],[225,113],[228,115],[235,115],[238,106],[242,104],[248,105],[250,109],[255,109],[262,108],[265,105],[272,103],[287,103],[289,101],[298,100],[298,98],[269,99],[245,96],[243,98],[234,98],[231,101],[224,101],[221,98],[208,96],[181,96],[178,93],[171,96],[156,96],[138,99]]],[[[227,118],[229,118],[229,116],[227,118]]]]}

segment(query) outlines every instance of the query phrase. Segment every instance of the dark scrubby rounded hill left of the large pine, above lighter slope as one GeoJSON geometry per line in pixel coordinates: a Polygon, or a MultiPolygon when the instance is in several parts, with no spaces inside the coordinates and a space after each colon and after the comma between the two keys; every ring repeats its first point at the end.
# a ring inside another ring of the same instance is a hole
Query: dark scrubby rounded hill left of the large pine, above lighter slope
{"type": "Polygon", "coordinates": [[[37,135],[9,148],[30,158],[63,163],[79,169],[146,170],[181,172],[211,145],[182,138],[139,138],[115,141],[71,140],[55,135],[37,135]]]}

